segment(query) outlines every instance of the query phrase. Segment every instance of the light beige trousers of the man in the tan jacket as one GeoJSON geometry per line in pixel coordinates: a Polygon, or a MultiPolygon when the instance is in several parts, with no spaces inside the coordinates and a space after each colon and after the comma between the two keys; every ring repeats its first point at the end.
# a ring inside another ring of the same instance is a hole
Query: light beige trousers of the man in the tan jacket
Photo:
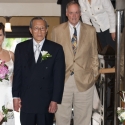
{"type": "Polygon", "coordinates": [[[79,92],[74,75],[65,83],[62,104],[56,112],[56,125],[70,125],[72,106],[74,109],[74,125],[89,125],[92,115],[93,93],[92,86],[85,92],[79,92]]]}

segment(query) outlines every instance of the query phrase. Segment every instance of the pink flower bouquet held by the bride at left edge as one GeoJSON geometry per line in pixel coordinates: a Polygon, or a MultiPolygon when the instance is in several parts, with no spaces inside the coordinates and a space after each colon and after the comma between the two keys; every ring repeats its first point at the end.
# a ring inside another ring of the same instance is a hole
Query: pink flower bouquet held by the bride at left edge
{"type": "Polygon", "coordinates": [[[2,80],[9,80],[8,79],[8,66],[5,64],[5,61],[1,61],[0,63],[0,82],[2,82],[2,80]]]}

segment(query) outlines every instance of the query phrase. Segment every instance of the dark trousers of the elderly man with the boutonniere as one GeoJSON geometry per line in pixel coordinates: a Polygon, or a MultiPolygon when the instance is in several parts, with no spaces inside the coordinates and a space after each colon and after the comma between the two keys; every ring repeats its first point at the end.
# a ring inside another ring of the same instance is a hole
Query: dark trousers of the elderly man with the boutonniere
{"type": "Polygon", "coordinates": [[[21,125],[53,125],[54,114],[20,113],[21,125]]]}

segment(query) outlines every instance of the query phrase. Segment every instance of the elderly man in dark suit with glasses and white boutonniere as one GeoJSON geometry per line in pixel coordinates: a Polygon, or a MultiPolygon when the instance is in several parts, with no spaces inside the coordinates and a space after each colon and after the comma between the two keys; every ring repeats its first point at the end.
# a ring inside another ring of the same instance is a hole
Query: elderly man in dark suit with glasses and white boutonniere
{"type": "Polygon", "coordinates": [[[15,50],[14,110],[21,108],[21,125],[52,125],[64,88],[63,48],[45,39],[43,18],[33,18],[29,30],[33,39],[19,43],[15,50]]]}

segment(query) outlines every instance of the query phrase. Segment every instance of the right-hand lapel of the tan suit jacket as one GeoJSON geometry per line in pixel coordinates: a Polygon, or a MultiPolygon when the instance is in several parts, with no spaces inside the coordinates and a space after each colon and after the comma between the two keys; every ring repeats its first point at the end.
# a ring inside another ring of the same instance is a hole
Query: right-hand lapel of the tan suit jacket
{"type": "Polygon", "coordinates": [[[79,36],[79,44],[78,44],[78,47],[77,47],[75,59],[79,56],[80,49],[83,48],[84,41],[86,39],[86,34],[87,34],[86,27],[84,26],[83,23],[81,23],[81,26],[80,26],[80,36],[79,36]]]}

